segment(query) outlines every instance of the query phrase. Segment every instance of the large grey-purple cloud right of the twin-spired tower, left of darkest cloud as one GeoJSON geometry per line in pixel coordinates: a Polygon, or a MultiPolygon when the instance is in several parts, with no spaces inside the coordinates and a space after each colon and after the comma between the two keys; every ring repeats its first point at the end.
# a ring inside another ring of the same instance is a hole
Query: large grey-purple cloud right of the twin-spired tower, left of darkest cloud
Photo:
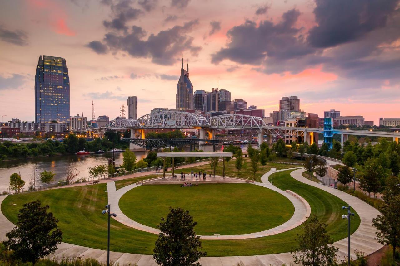
{"type": "Polygon", "coordinates": [[[288,10],[278,24],[264,20],[259,26],[246,20],[228,31],[228,47],[213,54],[211,62],[218,64],[229,59],[240,64],[257,65],[267,56],[286,60],[313,53],[314,48],[307,46],[300,29],[294,27],[299,15],[296,9],[288,10]]]}

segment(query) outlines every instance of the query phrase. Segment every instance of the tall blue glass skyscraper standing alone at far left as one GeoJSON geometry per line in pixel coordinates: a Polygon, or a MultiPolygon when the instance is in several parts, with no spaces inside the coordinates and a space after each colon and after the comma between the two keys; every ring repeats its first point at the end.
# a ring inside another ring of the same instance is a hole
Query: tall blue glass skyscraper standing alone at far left
{"type": "Polygon", "coordinates": [[[35,122],[70,121],[70,77],[64,58],[39,56],[35,75],[35,122]]]}

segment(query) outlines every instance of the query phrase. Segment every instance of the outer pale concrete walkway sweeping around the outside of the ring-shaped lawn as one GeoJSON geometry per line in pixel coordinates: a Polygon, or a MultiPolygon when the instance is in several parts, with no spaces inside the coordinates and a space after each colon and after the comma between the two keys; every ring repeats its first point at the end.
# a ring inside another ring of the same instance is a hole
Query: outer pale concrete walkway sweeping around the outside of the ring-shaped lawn
{"type": "MultiPolygon", "coordinates": [[[[296,169],[296,168],[292,168],[296,169]]],[[[275,173],[279,171],[286,171],[292,169],[282,169],[278,171],[271,170],[270,172],[275,173]]],[[[351,246],[352,246],[352,258],[355,258],[354,248],[358,248],[365,252],[366,255],[371,254],[372,252],[380,249],[382,245],[380,245],[373,238],[375,237],[375,229],[371,225],[372,218],[375,218],[376,215],[379,214],[378,210],[370,206],[369,204],[363,202],[356,197],[353,197],[343,191],[338,191],[336,189],[332,189],[331,187],[327,187],[324,185],[320,185],[313,181],[310,181],[302,176],[302,172],[304,169],[298,169],[292,172],[292,177],[302,183],[306,183],[313,187],[318,187],[323,189],[324,191],[336,195],[340,199],[343,199],[357,211],[357,214],[360,215],[361,224],[359,228],[352,234],[351,246]]],[[[262,181],[268,181],[268,176],[272,173],[266,173],[262,176],[262,181]],[[268,175],[267,175],[268,174],[268,175]]],[[[0,204],[5,199],[6,196],[0,196],[0,204]]],[[[345,222],[345,221],[344,221],[345,222]]],[[[0,212],[0,239],[5,238],[5,233],[10,231],[14,227],[7,218],[4,216],[2,212],[0,212]]],[[[343,260],[344,256],[347,256],[347,238],[339,240],[334,243],[334,245],[340,248],[338,252],[338,259],[343,260]]],[[[84,256],[84,257],[92,257],[97,258],[100,261],[105,261],[107,259],[107,251],[99,250],[95,248],[88,248],[84,246],[78,246],[74,244],[61,243],[58,246],[58,249],[55,254],[51,258],[61,258],[62,256],[74,258],[76,256],[84,256]]],[[[156,266],[156,262],[154,262],[151,255],[141,255],[141,254],[130,254],[130,253],[122,253],[122,252],[110,252],[111,260],[123,264],[135,264],[137,263],[139,266],[156,266]]],[[[267,254],[267,255],[256,255],[256,256],[227,256],[227,257],[203,257],[200,258],[200,264],[202,266],[208,265],[216,265],[216,266],[233,266],[238,262],[244,263],[246,266],[282,266],[282,264],[286,265],[294,265],[293,257],[290,252],[279,253],[279,254],[267,254]]]]}

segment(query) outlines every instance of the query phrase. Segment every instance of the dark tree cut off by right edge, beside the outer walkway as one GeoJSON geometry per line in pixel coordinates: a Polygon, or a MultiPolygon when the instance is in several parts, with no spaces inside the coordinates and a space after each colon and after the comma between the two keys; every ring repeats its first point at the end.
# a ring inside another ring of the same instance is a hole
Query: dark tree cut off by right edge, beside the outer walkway
{"type": "Polygon", "coordinates": [[[375,239],[382,245],[392,245],[394,260],[396,247],[400,246],[400,195],[385,199],[379,211],[381,214],[372,219],[372,225],[379,230],[375,239]]]}

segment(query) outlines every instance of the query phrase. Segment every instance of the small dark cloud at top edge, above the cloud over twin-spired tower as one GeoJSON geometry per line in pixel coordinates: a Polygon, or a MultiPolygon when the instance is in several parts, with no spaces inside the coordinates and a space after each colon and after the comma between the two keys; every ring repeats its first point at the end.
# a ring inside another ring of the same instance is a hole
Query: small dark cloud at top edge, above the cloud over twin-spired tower
{"type": "Polygon", "coordinates": [[[131,4],[132,0],[119,0],[117,4],[111,4],[112,20],[104,20],[104,27],[114,30],[128,30],[126,22],[136,20],[143,13],[140,9],[132,8],[131,4]]]}

